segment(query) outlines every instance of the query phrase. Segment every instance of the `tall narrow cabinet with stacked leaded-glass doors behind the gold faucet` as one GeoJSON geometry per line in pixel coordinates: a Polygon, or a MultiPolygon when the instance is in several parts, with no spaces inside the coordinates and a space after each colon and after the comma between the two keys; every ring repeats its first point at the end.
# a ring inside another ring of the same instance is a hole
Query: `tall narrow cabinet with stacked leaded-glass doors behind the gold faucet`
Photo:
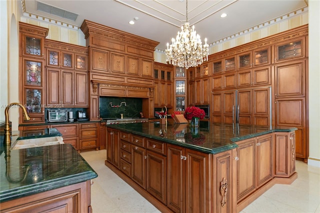
{"type": "Polygon", "coordinates": [[[19,22],[19,102],[25,106],[30,120],[19,117],[19,123],[44,123],[45,70],[44,38],[48,29],[19,22]]]}

